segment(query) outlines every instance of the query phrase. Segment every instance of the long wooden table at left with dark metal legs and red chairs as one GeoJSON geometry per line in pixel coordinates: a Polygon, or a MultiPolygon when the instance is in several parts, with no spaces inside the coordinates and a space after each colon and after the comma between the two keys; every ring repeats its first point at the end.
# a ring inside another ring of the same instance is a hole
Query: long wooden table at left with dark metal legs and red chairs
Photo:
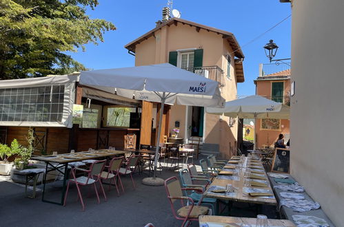
{"type": "Polygon", "coordinates": [[[99,151],[83,151],[76,153],[63,153],[59,155],[45,155],[45,156],[32,156],[32,160],[37,160],[45,162],[45,175],[44,175],[44,184],[42,192],[42,201],[50,202],[52,204],[63,205],[63,199],[65,196],[65,184],[68,177],[68,163],[70,162],[80,162],[83,160],[97,159],[97,158],[106,158],[114,155],[124,155],[127,151],[112,151],[108,149],[103,149],[99,151]],[[54,164],[52,164],[54,163],[54,164]],[[63,169],[63,171],[61,171],[63,169]],[[58,171],[63,175],[63,185],[61,193],[61,202],[54,202],[47,199],[44,199],[45,195],[45,184],[46,178],[49,172],[58,171]]]}

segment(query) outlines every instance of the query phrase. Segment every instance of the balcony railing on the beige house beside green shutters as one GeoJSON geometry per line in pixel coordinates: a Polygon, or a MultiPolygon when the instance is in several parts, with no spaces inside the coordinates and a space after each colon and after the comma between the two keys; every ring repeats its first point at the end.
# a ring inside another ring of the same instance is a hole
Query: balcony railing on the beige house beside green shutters
{"type": "Polygon", "coordinates": [[[217,65],[203,66],[203,67],[188,67],[188,68],[183,68],[183,69],[188,70],[190,72],[194,72],[195,74],[204,76],[205,78],[208,78],[210,80],[215,80],[219,82],[220,87],[225,86],[225,78],[223,76],[223,70],[217,65]]]}

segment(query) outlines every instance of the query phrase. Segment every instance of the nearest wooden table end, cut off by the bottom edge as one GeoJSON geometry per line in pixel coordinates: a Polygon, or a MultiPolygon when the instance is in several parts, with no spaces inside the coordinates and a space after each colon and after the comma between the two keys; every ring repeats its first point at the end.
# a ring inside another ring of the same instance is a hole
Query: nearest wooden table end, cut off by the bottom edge
{"type": "MultiPolygon", "coordinates": [[[[210,215],[201,215],[199,216],[199,226],[203,224],[215,222],[216,224],[236,224],[238,227],[241,224],[256,224],[256,218],[249,217],[225,217],[225,216],[210,216],[210,215]]],[[[290,220],[286,219],[267,219],[267,226],[288,226],[294,227],[295,224],[290,220]]]]}

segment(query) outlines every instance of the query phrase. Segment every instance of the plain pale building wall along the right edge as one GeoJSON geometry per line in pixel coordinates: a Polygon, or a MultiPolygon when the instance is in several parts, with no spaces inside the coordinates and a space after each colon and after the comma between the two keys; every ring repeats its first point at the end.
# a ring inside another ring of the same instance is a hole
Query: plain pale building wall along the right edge
{"type": "Polygon", "coordinates": [[[292,175],[344,226],[344,1],[294,0],[292,175]]]}

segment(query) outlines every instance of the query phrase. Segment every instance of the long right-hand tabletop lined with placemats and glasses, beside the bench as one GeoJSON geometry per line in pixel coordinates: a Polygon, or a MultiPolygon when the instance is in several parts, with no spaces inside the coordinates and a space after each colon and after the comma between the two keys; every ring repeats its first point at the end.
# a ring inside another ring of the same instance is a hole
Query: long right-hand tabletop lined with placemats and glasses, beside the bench
{"type": "Polygon", "coordinates": [[[204,197],[276,205],[274,193],[260,160],[233,156],[217,174],[204,192],[204,197]]]}

